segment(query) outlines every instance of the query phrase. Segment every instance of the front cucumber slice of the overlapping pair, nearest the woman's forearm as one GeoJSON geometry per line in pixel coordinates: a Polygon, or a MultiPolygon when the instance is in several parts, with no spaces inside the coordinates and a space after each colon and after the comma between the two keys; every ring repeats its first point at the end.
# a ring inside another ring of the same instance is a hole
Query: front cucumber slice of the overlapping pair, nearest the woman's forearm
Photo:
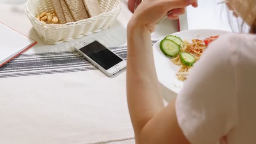
{"type": "Polygon", "coordinates": [[[167,56],[177,56],[181,47],[172,40],[162,40],[160,43],[161,51],[167,56]]]}

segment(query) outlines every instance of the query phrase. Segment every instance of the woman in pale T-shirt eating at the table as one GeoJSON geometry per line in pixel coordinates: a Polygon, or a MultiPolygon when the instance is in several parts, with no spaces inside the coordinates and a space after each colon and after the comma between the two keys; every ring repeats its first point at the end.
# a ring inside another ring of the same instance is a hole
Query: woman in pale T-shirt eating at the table
{"type": "MultiPolygon", "coordinates": [[[[240,1],[229,0],[229,8],[255,33],[256,0],[240,1]]],[[[150,34],[165,13],[181,8],[169,16],[176,19],[188,5],[197,3],[144,0],[129,21],[127,96],[136,143],[256,144],[254,34],[223,35],[211,43],[176,101],[164,107],[150,34]]]]}

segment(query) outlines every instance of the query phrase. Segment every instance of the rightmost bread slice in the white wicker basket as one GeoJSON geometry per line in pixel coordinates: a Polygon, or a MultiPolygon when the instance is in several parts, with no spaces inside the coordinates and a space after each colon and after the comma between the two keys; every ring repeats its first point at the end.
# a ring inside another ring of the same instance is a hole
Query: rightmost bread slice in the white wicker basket
{"type": "Polygon", "coordinates": [[[98,16],[102,13],[98,0],[83,0],[85,8],[91,17],[98,16]]]}

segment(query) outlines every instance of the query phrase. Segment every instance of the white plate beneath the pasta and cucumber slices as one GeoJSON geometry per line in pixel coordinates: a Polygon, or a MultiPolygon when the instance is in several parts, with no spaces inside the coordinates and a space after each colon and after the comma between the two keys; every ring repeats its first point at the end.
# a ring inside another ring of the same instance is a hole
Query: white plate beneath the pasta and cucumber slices
{"type": "MultiPolygon", "coordinates": [[[[223,35],[225,33],[227,32],[221,30],[200,29],[176,32],[171,35],[176,35],[177,37],[180,37],[182,40],[191,41],[192,39],[204,40],[207,37],[223,35]]],[[[162,53],[159,47],[161,40],[159,40],[157,43],[155,43],[155,45],[153,45],[157,77],[163,86],[178,94],[184,84],[184,82],[178,80],[176,76],[177,72],[179,71],[179,66],[173,64],[171,62],[170,57],[167,57],[162,53]]]]}

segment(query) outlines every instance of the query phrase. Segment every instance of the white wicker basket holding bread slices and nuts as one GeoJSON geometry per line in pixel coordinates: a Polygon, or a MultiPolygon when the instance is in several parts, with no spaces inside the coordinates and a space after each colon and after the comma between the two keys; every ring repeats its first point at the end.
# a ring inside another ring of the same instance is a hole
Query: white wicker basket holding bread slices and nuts
{"type": "Polygon", "coordinates": [[[99,0],[99,3],[104,13],[67,24],[45,24],[35,17],[44,11],[54,11],[51,0],[28,0],[25,12],[45,43],[58,44],[110,27],[121,11],[120,0],[99,0]]]}

